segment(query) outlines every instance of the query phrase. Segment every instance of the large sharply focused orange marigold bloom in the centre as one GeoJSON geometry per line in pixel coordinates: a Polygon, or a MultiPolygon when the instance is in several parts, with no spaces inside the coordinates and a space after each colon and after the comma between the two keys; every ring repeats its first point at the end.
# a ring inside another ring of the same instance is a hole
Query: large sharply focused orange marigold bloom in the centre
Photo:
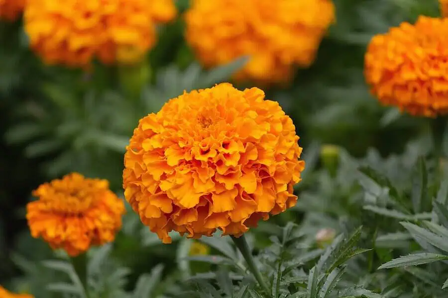
{"type": "Polygon", "coordinates": [[[124,195],[164,243],[171,230],[239,236],[296,204],[298,140],[258,88],[184,92],[139,121],[124,155],[124,195]]]}

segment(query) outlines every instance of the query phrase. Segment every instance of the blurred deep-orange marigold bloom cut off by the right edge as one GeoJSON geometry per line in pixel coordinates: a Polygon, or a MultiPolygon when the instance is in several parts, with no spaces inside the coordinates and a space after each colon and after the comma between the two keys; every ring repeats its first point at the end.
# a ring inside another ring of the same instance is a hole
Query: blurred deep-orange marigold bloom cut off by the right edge
{"type": "Polygon", "coordinates": [[[448,113],[448,19],[420,16],[372,38],[365,55],[371,92],[411,115],[448,113]]]}

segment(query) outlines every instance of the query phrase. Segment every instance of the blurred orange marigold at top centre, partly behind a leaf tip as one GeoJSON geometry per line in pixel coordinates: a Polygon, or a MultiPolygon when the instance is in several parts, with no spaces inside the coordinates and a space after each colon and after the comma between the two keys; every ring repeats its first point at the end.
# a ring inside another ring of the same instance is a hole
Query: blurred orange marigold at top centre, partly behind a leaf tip
{"type": "Polygon", "coordinates": [[[287,81],[308,67],[335,19],[331,0],[193,0],[186,38],[206,67],[250,55],[236,79],[287,81]]]}

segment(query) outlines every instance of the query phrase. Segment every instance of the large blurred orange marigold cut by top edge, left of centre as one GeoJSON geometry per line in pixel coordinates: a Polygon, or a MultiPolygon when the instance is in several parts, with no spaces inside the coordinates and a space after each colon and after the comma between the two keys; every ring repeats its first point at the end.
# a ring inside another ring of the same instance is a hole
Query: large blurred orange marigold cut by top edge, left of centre
{"type": "Polygon", "coordinates": [[[155,44],[155,24],[176,15],[173,0],[32,0],[24,23],[47,64],[134,63],[155,44]]]}

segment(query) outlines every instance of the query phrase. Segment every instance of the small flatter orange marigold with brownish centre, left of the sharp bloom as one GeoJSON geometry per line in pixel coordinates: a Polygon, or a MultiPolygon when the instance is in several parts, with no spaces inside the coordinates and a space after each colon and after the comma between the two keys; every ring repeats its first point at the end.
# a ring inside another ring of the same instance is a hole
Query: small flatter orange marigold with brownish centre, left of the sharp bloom
{"type": "Polygon", "coordinates": [[[121,227],[124,204],[107,180],[71,173],[40,185],[33,196],[38,200],[26,206],[31,235],[71,256],[113,241],[121,227]]]}

